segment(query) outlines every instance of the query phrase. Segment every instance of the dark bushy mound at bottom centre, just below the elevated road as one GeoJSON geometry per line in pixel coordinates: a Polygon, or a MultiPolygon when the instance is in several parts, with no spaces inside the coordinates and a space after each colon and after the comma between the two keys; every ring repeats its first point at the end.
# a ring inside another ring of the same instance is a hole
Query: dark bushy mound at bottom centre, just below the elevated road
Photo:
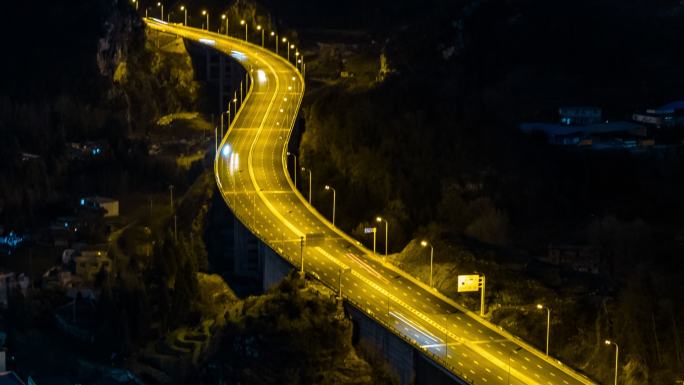
{"type": "Polygon", "coordinates": [[[307,288],[296,275],[247,298],[228,321],[202,383],[397,383],[386,364],[352,346],[352,324],[337,301],[307,288]]]}

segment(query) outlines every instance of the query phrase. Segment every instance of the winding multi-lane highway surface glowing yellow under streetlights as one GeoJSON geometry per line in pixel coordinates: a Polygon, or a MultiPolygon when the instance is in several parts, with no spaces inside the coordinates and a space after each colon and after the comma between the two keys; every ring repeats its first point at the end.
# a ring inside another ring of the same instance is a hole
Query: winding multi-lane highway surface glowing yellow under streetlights
{"type": "Polygon", "coordinates": [[[383,263],[307,203],[287,171],[287,143],[304,93],[304,79],[292,64],[237,38],[146,22],[222,51],[250,74],[249,96],[220,142],[216,180],[235,215],[280,256],[299,268],[301,237],[322,237],[305,242],[307,272],[331,288],[341,276],[345,300],[475,384],[593,384],[383,263]]]}

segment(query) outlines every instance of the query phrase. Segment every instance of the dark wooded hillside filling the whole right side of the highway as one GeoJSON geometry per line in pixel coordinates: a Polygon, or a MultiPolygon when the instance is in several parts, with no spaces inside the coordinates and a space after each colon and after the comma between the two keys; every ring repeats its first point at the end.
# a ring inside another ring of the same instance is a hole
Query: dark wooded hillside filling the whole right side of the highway
{"type": "MultiPolygon", "coordinates": [[[[597,105],[616,120],[681,99],[683,7],[446,3],[404,14],[389,33],[359,25],[387,38],[396,74],[317,90],[305,106],[302,164],[337,188],[338,223],[357,238],[382,214],[393,251],[428,236],[442,274],[491,273],[491,315],[517,334],[543,346],[531,305],[546,302],[564,360],[608,380],[602,339],[617,338],[625,381],[672,382],[684,367],[684,151],[564,150],[517,124],[555,120],[562,105],[597,105]],[[602,274],[536,263],[552,243],[595,247],[602,274]]],[[[329,199],[314,197],[324,213],[329,199]]],[[[424,273],[422,261],[405,267],[424,273]]]]}

